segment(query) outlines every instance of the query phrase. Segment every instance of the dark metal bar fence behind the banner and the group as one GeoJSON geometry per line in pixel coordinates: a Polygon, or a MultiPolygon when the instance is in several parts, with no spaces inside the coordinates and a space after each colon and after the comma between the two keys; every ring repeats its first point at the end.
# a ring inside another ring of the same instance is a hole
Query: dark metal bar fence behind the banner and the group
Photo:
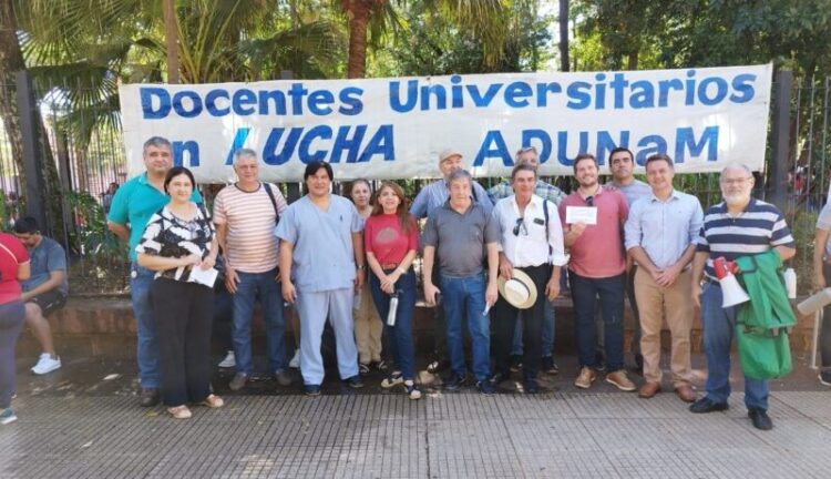
{"type": "MultiPolygon", "coordinates": [[[[812,235],[817,213],[825,203],[829,187],[829,85],[830,79],[808,79],[797,82],[791,90],[789,114],[790,140],[788,144],[787,197],[779,201],[784,206],[789,224],[798,236],[799,253],[794,266],[800,275],[800,291],[810,285],[812,235]],[[784,203],[784,204],[782,204],[784,203]]],[[[9,95],[20,89],[18,83],[0,83],[0,94],[9,95]]],[[[96,122],[107,118],[109,111],[75,109],[68,92],[69,85],[49,85],[32,90],[32,99],[39,121],[48,139],[49,152],[41,157],[52,162],[60,186],[47,188],[41,194],[60,195],[60,213],[48,215],[51,223],[44,231],[57,232],[55,236],[66,246],[70,255],[70,281],[73,294],[119,294],[127,288],[126,246],[106,231],[105,214],[112,193],[126,180],[125,154],[120,125],[116,122],[96,122]],[[90,125],[93,124],[93,128],[90,125]]],[[[79,89],[73,90],[78,95],[79,89]]],[[[777,91],[777,89],[774,89],[777,91]]],[[[80,92],[93,94],[95,92],[80,92]]],[[[74,96],[73,96],[74,98],[74,96]]],[[[113,102],[102,102],[112,104],[113,102]]],[[[112,118],[112,116],[110,116],[112,118]]],[[[117,119],[117,116],[115,116],[117,119]]],[[[25,185],[21,182],[20,159],[16,156],[14,139],[0,124],[0,217],[13,222],[27,211],[25,185]]],[[[773,133],[768,141],[767,164],[772,164],[773,133]]],[[[48,172],[45,174],[48,176],[48,172]]],[[[694,193],[708,206],[720,201],[718,175],[685,174],[676,176],[676,187],[694,193]]],[[[545,179],[568,192],[575,186],[572,177],[545,179]]],[[[490,185],[499,179],[485,179],[490,185]]],[[[755,194],[766,198],[779,181],[772,169],[757,175],[755,194]]],[[[424,181],[401,182],[409,196],[414,196],[424,181]]],[[[208,202],[219,185],[201,185],[208,202]]],[[[345,185],[336,185],[336,192],[345,185]]],[[[284,194],[290,200],[304,193],[301,184],[283,184],[284,194]]],[[[42,201],[50,200],[41,197],[42,201]]],[[[6,225],[8,226],[8,224],[6,225]]]]}

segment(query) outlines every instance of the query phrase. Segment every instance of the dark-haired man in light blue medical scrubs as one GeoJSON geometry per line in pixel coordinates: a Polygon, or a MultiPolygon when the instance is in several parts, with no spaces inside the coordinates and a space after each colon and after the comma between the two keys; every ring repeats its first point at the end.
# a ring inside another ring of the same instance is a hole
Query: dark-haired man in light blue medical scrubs
{"type": "Polygon", "coordinates": [[[340,378],[363,387],[358,375],[352,300],[363,284],[363,221],[347,198],[330,193],[334,175],[325,162],[306,166],[309,193],[284,213],[280,238],[283,298],[297,303],[300,316],[300,371],[307,396],[324,381],[320,342],[327,316],[335,332],[340,378]]]}

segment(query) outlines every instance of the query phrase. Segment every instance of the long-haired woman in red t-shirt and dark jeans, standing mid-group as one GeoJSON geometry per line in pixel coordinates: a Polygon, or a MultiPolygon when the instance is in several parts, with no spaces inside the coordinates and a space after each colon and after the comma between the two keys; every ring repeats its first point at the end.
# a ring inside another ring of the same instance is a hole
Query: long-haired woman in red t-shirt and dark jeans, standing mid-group
{"type": "Polygon", "coordinates": [[[421,399],[414,383],[416,349],[412,317],[416,312],[416,274],[412,262],[419,247],[416,218],[408,213],[404,192],[396,183],[383,182],[376,195],[372,215],[363,226],[363,244],[372,274],[372,299],[384,322],[386,345],[392,350],[396,367],[381,387],[403,385],[410,399],[421,399]],[[394,325],[390,325],[390,300],[398,297],[394,325]]]}

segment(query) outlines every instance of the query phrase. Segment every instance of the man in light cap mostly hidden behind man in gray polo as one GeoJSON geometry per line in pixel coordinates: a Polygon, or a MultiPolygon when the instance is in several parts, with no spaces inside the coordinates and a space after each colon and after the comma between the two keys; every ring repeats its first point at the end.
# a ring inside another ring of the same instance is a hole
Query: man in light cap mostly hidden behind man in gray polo
{"type": "MultiPolygon", "coordinates": [[[[421,188],[410,206],[410,214],[416,216],[417,220],[428,217],[430,213],[442,207],[444,203],[447,203],[448,179],[454,171],[462,170],[462,154],[454,149],[442,151],[439,154],[439,170],[441,171],[442,179],[421,188]]],[[[473,196],[473,202],[482,205],[486,214],[491,214],[493,203],[491,203],[491,200],[488,197],[488,192],[475,181],[472,182],[472,185],[471,194],[473,196]]],[[[439,277],[433,277],[433,284],[438,283],[439,277]]],[[[428,366],[430,373],[439,371],[447,364],[448,345],[444,343],[444,316],[441,308],[437,308],[435,312],[435,329],[433,337],[435,338],[435,360],[428,366]]]]}

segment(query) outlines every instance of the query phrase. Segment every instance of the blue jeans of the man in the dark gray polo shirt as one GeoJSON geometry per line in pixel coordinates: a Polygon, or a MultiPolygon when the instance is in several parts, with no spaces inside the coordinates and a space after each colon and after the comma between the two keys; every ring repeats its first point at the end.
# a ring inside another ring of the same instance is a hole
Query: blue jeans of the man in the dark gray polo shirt
{"type": "Polygon", "coordinates": [[[484,274],[466,277],[441,275],[442,305],[448,330],[451,369],[459,376],[468,374],[462,344],[462,324],[468,320],[472,349],[473,375],[476,380],[491,376],[491,325],[485,308],[484,274]]]}

